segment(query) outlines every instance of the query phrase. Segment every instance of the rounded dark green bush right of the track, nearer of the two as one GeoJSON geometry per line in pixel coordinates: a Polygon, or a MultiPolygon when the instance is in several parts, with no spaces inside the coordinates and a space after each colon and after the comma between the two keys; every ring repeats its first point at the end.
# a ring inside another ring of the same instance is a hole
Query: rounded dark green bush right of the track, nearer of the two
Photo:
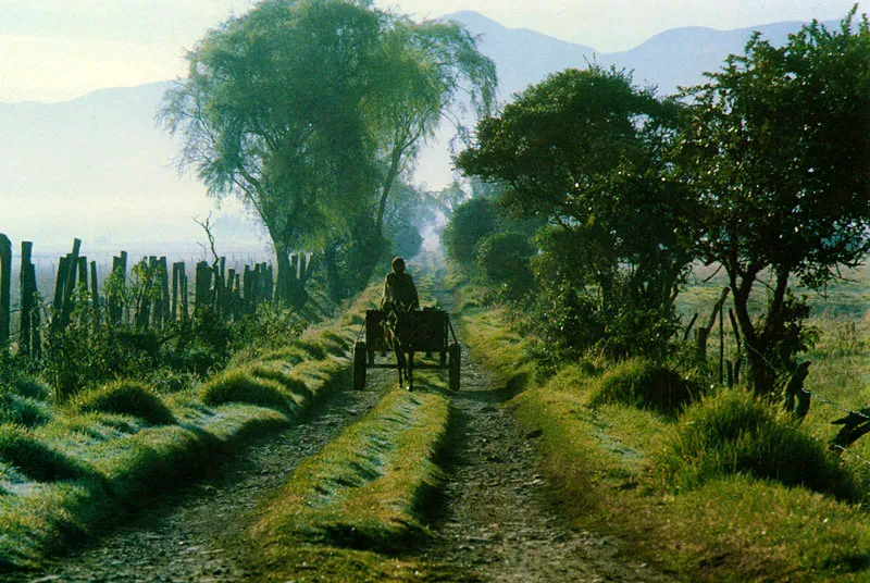
{"type": "Polygon", "coordinates": [[[535,287],[529,258],[535,252],[529,238],[519,233],[497,233],[477,245],[477,270],[501,286],[502,295],[519,299],[535,287]]]}

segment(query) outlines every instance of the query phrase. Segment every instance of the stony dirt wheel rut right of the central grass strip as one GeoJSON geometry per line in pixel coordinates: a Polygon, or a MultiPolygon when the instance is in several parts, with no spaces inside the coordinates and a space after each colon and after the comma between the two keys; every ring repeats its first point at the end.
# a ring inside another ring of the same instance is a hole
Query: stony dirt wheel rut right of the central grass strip
{"type": "Polygon", "coordinates": [[[424,556],[435,580],[486,582],[671,581],[622,551],[620,541],[569,528],[540,475],[534,431],[502,408],[505,393],[463,349],[453,397],[459,438],[443,518],[424,556]]]}

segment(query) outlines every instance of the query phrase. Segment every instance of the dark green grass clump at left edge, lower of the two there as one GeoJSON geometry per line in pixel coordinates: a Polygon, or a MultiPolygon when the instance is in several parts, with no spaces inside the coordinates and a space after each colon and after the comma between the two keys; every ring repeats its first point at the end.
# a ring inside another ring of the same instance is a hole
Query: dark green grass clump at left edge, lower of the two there
{"type": "Polygon", "coordinates": [[[37,482],[74,480],[88,473],[85,467],[51,449],[32,432],[12,424],[0,425],[0,461],[37,482]]]}

